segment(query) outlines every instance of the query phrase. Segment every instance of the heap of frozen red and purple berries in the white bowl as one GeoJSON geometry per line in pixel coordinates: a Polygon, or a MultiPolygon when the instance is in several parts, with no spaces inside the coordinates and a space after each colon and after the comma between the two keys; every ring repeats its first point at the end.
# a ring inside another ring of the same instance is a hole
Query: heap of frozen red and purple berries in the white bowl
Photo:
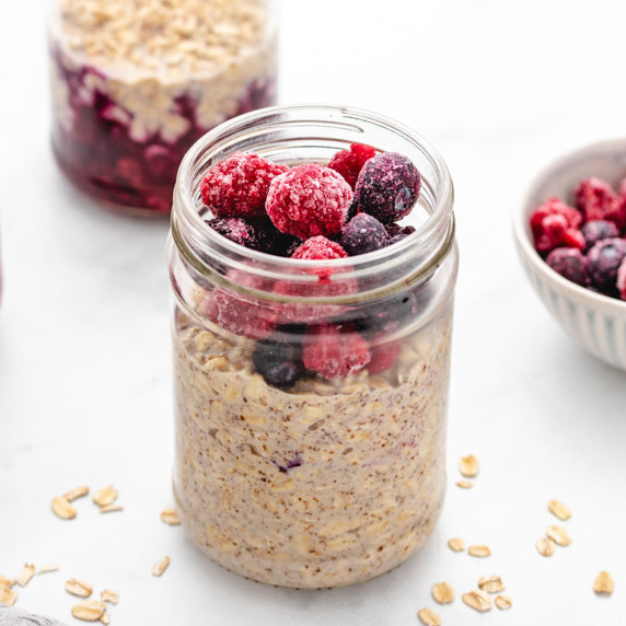
{"type": "Polygon", "coordinates": [[[563,277],[626,300],[626,178],[616,192],[590,177],[575,190],[573,207],[548,198],[532,213],[535,250],[563,277]]]}

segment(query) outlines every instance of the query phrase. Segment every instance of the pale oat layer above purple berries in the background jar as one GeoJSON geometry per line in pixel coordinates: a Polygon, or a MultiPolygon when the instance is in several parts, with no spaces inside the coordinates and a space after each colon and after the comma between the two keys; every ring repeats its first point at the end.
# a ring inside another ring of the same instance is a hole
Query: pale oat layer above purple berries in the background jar
{"type": "Polygon", "coordinates": [[[195,103],[196,124],[212,128],[237,113],[252,83],[275,79],[276,32],[264,0],[60,0],[53,50],[65,71],[92,68],[68,85],[53,63],[56,118],[70,126],[69,97],[111,96],[112,119],[142,141],[175,141],[190,121],[176,106],[195,103]]]}

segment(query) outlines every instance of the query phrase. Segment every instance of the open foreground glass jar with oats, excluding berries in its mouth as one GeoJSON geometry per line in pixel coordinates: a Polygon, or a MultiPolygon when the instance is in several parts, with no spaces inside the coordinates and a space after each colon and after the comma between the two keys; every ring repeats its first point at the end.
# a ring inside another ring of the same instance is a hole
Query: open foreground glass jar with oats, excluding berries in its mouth
{"type": "Polygon", "coordinates": [[[185,156],[167,246],[174,491],[186,531],[218,564],[286,587],[350,584],[394,568],[432,532],[445,491],[452,202],[434,149],[356,109],[264,109],[185,156]],[[351,142],[401,152],[421,173],[416,231],[399,243],[298,260],[205,223],[202,177],[232,152],[327,163],[351,142]],[[305,371],[302,355],[322,345],[321,359],[366,350],[368,363],[332,380],[305,371]]]}

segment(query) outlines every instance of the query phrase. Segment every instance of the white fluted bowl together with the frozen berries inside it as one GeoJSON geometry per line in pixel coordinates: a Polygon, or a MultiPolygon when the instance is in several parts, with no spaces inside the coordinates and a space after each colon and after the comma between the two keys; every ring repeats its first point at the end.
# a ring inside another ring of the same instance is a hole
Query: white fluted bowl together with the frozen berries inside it
{"type": "Polygon", "coordinates": [[[540,173],[514,220],[524,270],[548,312],[590,353],[622,370],[625,179],[626,139],[580,148],[540,173]]]}

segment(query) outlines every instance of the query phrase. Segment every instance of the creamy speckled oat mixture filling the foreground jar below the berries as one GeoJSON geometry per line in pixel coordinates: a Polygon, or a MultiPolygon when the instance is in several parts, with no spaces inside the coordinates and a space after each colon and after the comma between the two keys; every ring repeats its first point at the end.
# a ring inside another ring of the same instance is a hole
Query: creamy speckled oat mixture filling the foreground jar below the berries
{"type": "Polygon", "coordinates": [[[177,311],[181,520],[220,565],[287,587],[349,584],[424,543],[445,490],[451,305],[396,364],[340,382],[269,386],[230,344],[177,311]]]}

